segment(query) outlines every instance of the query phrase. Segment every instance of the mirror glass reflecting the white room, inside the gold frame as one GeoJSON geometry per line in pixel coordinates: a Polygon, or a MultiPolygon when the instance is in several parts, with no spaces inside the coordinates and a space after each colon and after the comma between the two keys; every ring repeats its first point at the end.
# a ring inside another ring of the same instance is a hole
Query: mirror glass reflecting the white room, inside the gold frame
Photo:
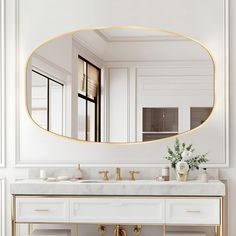
{"type": "Polygon", "coordinates": [[[27,105],[42,128],[92,142],[142,142],[201,125],[214,103],[214,65],[198,43],[137,28],[71,33],[40,46],[27,105]]]}

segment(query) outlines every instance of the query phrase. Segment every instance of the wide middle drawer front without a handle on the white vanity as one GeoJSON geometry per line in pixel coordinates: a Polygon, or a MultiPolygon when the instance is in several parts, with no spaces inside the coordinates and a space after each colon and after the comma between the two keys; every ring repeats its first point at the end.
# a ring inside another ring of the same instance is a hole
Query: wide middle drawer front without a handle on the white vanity
{"type": "Polygon", "coordinates": [[[164,200],[138,198],[70,199],[70,221],[90,223],[164,223],[164,200]]]}

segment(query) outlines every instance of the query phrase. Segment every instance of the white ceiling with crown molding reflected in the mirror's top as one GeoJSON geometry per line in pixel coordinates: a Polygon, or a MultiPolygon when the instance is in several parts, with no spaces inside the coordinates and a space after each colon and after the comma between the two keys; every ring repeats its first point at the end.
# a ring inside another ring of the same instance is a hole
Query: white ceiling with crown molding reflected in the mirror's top
{"type": "Polygon", "coordinates": [[[73,39],[103,61],[210,60],[196,42],[157,30],[87,30],[73,39]]]}

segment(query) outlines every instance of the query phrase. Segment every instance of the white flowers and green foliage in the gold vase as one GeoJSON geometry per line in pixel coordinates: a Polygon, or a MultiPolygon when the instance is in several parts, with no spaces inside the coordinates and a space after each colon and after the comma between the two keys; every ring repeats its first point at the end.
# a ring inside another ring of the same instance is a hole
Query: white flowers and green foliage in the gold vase
{"type": "Polygon", "coordinates": [[[164,158],[170,161],[171,167],[180,175],[187,175],[190,170],[198,170],[201,164],[208,162],[208,153],[196,155],[192,144],[181,144],[179,139],[175,140],[173,149],[167,148],[168,154],[164,158]]]}

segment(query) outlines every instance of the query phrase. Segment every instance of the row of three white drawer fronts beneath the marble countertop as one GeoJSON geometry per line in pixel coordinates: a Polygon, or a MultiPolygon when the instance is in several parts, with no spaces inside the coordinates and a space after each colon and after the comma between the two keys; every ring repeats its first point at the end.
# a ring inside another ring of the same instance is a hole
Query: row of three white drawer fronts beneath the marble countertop
{"type": "Polygon", "coordinates": [[[14,196],[15,223],[220,225],[221,197],[14,196]]]}

